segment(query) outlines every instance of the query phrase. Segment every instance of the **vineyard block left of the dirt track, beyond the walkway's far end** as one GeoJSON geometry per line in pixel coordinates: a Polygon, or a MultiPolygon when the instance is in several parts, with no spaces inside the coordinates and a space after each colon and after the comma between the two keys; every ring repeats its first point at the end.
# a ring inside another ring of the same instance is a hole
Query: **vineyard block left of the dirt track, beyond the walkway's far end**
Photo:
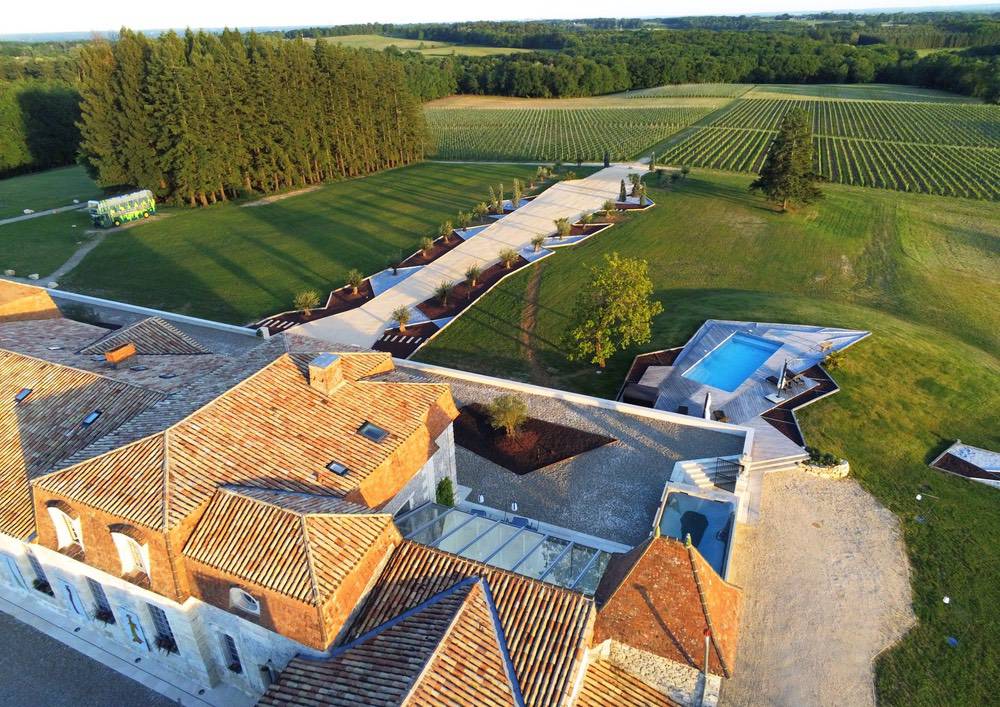
{"type": "Polygon", "coordinates": [[[706,107],[428,110],[438,159],[630,159],[708,115],[706,107]]]}

